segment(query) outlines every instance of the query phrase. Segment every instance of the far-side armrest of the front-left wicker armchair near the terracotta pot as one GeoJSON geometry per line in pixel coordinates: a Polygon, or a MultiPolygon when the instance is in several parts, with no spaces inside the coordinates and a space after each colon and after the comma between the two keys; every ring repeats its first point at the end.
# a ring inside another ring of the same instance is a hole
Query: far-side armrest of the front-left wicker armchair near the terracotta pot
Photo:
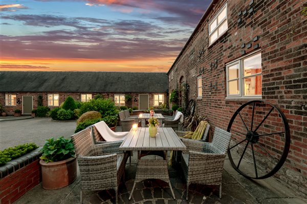
{"type": "Polygon", "coordinates": [[[116,141],[96,144],[94,146],[95,155],[123,154],[123,151],[119,149],[122,142],[123,141],[116,141]]]}

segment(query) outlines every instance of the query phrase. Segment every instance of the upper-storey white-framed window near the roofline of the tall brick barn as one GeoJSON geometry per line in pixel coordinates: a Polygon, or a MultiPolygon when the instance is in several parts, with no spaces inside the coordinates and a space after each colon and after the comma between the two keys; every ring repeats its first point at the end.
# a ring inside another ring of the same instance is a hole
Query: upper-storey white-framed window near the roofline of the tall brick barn
{"type": "Polygon", "coordinates": [[[215,42],[228,29],[227,3],[218,11],[209,23],[209,45],[215,42]]]}

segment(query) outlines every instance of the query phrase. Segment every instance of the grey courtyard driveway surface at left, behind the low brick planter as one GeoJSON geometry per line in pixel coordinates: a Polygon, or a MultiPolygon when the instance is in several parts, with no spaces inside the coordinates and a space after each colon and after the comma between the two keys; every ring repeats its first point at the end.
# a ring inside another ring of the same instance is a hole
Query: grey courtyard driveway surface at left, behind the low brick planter
{"type": "Polygon", "coordinates": [[[42,146],[51,137],[69,138],[75,129],[75,121],[54,122],[51,118],[0,121],[0,150],[29,142],[42,146]]]}

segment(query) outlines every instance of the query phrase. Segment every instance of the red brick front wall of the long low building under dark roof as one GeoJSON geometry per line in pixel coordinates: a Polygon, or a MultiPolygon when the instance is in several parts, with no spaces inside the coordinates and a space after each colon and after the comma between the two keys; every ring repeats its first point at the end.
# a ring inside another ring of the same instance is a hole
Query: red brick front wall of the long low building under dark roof
{"type": "MultiPolygon", "coordinates": [[[[65,101],[65,99],[68,96],[72,96],[75,100],[81,100],[80,99],[80,94],[81,93],[61,93],[61,92],[39,92],[39,93],[35,93],[35,92],[9,92],[11,94],[16,94],[16,98],[20,98],[20,100],[22,100],[23,96],[33,96],[33,109],[37,108],[37,99],[38,99],[38,95],[42,95],[42,103],[43,106],[48,106],[48,94],[59,94],[59,104],[61,104],[62,102],[65,101]]],[[[5,104],[5,94],[6,93],[0,93],[0,104],[5,104]]],[[[94,98],[95,95],[97,95],[98,93],[91,93],[92,97],[94,98]]],[[[104,98],[112,98],[114,100],[114,94],[117,93],[99,93],[101,94],[104,98]]],[[[124,94],[131,94],[132,96],[132,101],[130,103],[126,103],[126,106],[128,106],[129,108],[132,108],[134,106],[139,107],[139,93],[124,93],[124,94]]],[[[153,95],[154,94],[164,94],[164,103],[167,103],[167,94],[166,93],[147,93],[149,95],[149,106],[153,106],[153,95]]],[[[12,106],[12,107],[8,107],[8,106],[4,106],[6,113],[8,115],[14,115],[14,110],[15,109],[19,109],[19,110],[23,110],[23,104],[22,101],[20,104],[17,104],[16,106],[12,106]]],[[[54,107],[50,107],[51,109],[53,109],[54,107]]]]}

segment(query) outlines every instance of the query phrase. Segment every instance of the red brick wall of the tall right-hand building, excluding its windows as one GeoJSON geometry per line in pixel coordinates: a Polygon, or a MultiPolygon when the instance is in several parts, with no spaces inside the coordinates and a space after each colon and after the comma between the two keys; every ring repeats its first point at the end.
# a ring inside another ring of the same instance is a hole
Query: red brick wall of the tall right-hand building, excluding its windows
{"type": "MultiPolygon", "coordinates": [[[[211,136],[215,126],[226,130],[233,113],[252,99],[226,99],[226,64],[261,50],[262,99],[281,109],[291,133],[289,156],[275,176],[307,194],[307,17],[301,14],[307,4],[299,0],[228,1],[228,31],[209,46],[208,23],[225,3],[214,2],[172,65],[169,92],[178,88],[181,78],[186,79],[189,99],[196,103],[195,113],[207,116],[211,136]],[[202,99],[196,99],[199,75],[203,80],[202,99]]],[[[265,125],[267,129],[261,131],[275,129],[280,121],[270,118],[265,125]]],[[[268,147],[280,150],[278,140],[266,141],[268,147]]]]}

